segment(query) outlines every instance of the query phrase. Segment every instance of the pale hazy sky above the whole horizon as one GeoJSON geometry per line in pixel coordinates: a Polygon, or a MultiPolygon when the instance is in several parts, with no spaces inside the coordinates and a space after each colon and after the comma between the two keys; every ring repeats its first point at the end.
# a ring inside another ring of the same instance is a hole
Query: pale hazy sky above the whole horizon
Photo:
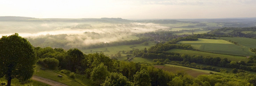
{"type": "Polygon", "coordinates": [[[256,0],[0,0],[0,16],[180,19],[256,17],[256,0]]]}

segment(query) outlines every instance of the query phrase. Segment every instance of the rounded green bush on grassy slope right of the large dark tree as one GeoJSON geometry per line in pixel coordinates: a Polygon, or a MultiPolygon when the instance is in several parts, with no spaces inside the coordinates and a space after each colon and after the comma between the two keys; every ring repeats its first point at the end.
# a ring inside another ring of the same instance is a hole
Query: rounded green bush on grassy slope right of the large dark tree
{"type": "Polygon", "coordinates": [[[57,69],[57,67],[59,66],[59,60],[55,58],[47,57],[47,58],[39,59],[38,64],[49,69],[57,69]]]}

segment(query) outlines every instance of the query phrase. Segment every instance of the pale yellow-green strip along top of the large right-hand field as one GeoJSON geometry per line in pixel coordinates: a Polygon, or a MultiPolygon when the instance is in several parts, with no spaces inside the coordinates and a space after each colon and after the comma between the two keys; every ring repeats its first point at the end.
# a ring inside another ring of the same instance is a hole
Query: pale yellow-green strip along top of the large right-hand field
{"type": "Polygon", "coordinates": [[[225,40],[217,40],[217,39],[201,39],[199,38],[196,41],[179,41],[179,43],[214,43],[214,44],[232,44],[231,42],[225,40]]]}

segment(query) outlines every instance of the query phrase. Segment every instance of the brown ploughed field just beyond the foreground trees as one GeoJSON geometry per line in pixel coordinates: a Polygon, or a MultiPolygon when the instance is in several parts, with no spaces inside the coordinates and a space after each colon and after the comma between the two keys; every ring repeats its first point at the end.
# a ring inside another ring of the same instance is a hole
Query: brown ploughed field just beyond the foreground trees
{"type": "MultiPolygon", "coordinates": [[[[198,75],[209,75],[210,71],[206,70],[207,72],[202,72],[203,70],[193,70],[191,68],[185,68],[183,66],[177,66],[177,65],[170,65],[170,64],[165,64],[165,65],[155,65],[154,67],[163,69],[165,71],[170,71],[172,73],[176,73],[177,71],[185,71],[188,75],[191,75],[193,77],[197,77],[198,75]]],[[[217,73],[217,72],[215,72],[217,73]]]]}

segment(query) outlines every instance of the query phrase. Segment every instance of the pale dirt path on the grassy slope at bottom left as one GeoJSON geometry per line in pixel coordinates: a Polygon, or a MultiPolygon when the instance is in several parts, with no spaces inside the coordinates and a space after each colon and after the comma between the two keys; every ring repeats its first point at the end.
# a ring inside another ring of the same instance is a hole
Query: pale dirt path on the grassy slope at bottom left
{"type": "Polygon", "coordinates": [[[42,77],[35,76],[35,75],[33,75],[32,79],[36,80],[36,81],[39,81],[39,82],[42,82],[42,83],[46,83],[46,84],[51,85],[51,86],[68,86],[68,85],[56,82],[54,80],[47,79],[47,78],[42,78],[42,77]]]}

